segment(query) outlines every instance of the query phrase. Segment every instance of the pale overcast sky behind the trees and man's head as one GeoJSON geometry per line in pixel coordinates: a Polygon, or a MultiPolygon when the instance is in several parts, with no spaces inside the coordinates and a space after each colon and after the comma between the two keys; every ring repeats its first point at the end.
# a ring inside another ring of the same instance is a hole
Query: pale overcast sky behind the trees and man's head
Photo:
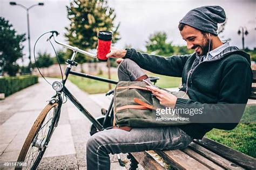
{"type": "MultiPolygon", "coordinates": [[[[8,19],[15,30],[27,33],[26,11],[20,6],[11,6],[10,1],[0,1],[0,16],[8,19]]],[[[31,52],[36,39],[46,31],[56,30],[60,33],[59,40],[65,41],[64,27],[69,26],[66,5],[70,0],[17,0],[16,3],[27,7],[43,2],[44,6],[30,9],[31,52]]],[[[111,0],[109,6],[116,11],[116,24],[120,22],[121,40],[116,47],[131,45],[134,48],[145,49],[145,41],[156,31],[165,31],[174,45],[186,45],[178,31],[178,22],[188,11],[204,5],[220,5],[227,16],[227,24],[223,39],[231,38],[230,44],[242,47],[241,35],[237,34],[240,26],[245,26],[249,32],[245,37],[245,46],[256,47],[256,1],[255,0],[169,0],[169,1],[122,1],[111,0]]],[[[28,56],[28,41],[24,42],[23,53],[28,56]]],[[[60,46],[56,45],[56,48],[60,46]]],[[[49,42],[40,41],[36,51],[53,53],[49,42]]]]}

